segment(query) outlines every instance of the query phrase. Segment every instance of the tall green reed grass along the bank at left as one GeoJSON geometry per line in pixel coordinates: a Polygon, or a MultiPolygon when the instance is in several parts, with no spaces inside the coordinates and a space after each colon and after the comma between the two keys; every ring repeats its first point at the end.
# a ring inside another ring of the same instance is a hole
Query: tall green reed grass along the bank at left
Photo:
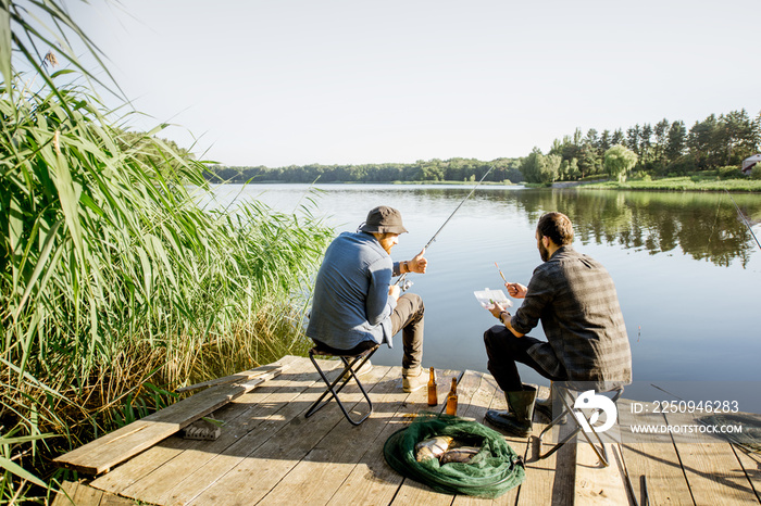
{"type": "Polygon", "coordinates": [[[201,208],[202,163],[63,75],[0,88],[0,503],[43,501],[49,459],[133,407],[302,351],[332,236],[308,206],[201,208]]]}

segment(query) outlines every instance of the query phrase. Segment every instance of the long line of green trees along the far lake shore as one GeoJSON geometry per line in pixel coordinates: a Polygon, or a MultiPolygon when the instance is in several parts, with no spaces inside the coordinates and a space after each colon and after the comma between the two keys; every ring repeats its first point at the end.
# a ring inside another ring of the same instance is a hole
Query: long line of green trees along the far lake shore
{"type": "Polygon", "coordinates": [[[549,184],[604,175],[621,179],[629,170],[643,176],[715,170],[739,166],[745,157],[758,152],[760,146],[761,114],[751,118],[743,109],[720,116],[711,114],[702,122],[695,122],[689,130],[683,121],[665,118],[654,125],[637,124],[625,130],[600,132],[590,128],[585,135],[577,128],[573,135],[556,139],[547,154],[534,148],[522,159],[486,162],[456,157],[407,164],[310,164],[274,168],[210,165],[205,177],[212,182],[240,184],[474,181],[494,165],[487,181],[549,184]]]}

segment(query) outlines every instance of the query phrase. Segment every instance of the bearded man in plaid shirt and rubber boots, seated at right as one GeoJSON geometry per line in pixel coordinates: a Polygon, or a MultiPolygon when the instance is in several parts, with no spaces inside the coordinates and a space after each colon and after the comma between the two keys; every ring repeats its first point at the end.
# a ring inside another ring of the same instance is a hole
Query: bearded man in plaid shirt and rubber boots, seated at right
{"type": "Polygon", "coordinates": [[[553,381],[604,389],[632,382],[624,317],[606,268],[574,251],[573,225],[562,213],[541,216],[536,240],[544,263],[528,287],[504,283],[510,296],[523,299],[523,304],[515,315],[499,304],[489,306],[501,325],[484,333],[488,369],[510,406],[509,412],[487,412],[486,419],[521,437],[532,431],[536,389],[523,384],[516,362],[553,381]],[[526,336],[539,321],[546,342],[526,336]]]}

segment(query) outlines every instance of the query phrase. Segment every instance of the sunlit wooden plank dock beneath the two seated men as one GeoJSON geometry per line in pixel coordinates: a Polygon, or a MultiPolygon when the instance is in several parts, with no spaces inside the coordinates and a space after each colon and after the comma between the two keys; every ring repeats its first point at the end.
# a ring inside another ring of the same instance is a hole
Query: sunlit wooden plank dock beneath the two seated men
{"type": "MultiPolygon", "coordinates": [[[[286,356],[277,364],[284,367],[279,376],[211,415],[225,421],[215,441],[169,437],[109,472],[67,483],[74,501],[59,493],[53,504],[761,504],[761,455],[726,442],[610,444],[612,463],[606,468],[586,444],[566,444],[537,459],[536,438],[507,438],[524,455],[522,485],[494,501],[437,493],[398,475],[383,456],[388,437],[429,409],[425,389],[402,392],[400,367],[375,365],[362,377],[374,412],[353,427],[335,402],[304,418],[324,384],[308,358],[286,356]]],[[[339,362],[322,364],[337,374],[339,362]]],[[[483,421],[487,409],[506,407],[488,374],[437,370],[437,377],[439,400],[449,390],[448,380],[459,378],[459,416],[483,421]]],[[[349,405],[361,399],[359,389],[349,387],[341,396],[349,405]]],[[[536,435],[545,425],[540,416],[535,419],[536,435]]]]}

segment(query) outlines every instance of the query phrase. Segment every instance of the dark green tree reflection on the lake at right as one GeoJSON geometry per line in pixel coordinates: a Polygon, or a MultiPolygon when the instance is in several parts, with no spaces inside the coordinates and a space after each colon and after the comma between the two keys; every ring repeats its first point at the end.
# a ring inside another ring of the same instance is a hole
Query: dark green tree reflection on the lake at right
{"type": "MultiPolygon", "coordinates": [[[[666,193],[585,189],[488,192],[486,200],[514,199],[536,223],[548,210],[562,210],[583,243],[620,245],[650,254],[679,251],[695,260],[745,267],[758,248],[725,193],[666,193]]],[[[735,195],[751,223],[761,216],[758,195],[735,195]]]]}

